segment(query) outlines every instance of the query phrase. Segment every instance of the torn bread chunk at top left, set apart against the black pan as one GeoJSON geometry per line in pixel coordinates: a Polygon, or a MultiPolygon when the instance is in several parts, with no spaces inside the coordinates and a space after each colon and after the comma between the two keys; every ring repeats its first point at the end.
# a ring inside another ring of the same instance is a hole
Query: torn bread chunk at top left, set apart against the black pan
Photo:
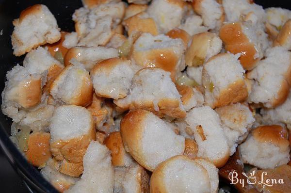
{"type": "Polygon", "coordinates": [[[13,20],[13,25],[11,41],[16,56],[40,45],[55,43],[61,38],[57,21],[45,5],[35,4],[26,8],[18,19],[13,20]]]}

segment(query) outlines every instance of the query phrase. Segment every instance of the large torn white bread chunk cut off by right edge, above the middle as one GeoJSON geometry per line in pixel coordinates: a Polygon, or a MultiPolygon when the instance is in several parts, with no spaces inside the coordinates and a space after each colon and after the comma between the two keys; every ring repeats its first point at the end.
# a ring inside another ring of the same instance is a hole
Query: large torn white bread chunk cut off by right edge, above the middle
{"type": "Polygon", "coordinates": [[[265,59],[247,73],[248,79],[255,80],[248,102],[260,103],[267,108],[284,103],[291,86],[290,77],[291,52],[283,47],[267,49],[265,59]]]}

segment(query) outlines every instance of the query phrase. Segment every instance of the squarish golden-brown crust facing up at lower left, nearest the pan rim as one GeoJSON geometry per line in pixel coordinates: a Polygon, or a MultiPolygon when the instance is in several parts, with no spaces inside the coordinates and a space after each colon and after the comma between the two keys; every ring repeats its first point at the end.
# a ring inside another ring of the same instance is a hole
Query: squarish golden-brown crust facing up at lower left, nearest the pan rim
{"type": "Polygon", "coordinates": [[[33,132],[29,135],[28,150],[25,152],[25,155],[27,161],[32,163],[33,166],[42,166],[51,157],[49,140],[49,133],[33,132]]]}

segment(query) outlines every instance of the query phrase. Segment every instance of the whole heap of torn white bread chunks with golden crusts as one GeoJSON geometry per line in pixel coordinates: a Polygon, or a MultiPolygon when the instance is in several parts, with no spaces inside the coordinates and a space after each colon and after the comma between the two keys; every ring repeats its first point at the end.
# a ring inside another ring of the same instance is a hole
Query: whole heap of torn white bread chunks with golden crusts
{"type": "Polygon", "coordinates": [[[290,191],[291,11],[149,1],[82,0],[76,32],[45,5],[21,12],[11,140],[60,192],[216,193],[238,151],[286,180],[254,190],[290,191]]]}

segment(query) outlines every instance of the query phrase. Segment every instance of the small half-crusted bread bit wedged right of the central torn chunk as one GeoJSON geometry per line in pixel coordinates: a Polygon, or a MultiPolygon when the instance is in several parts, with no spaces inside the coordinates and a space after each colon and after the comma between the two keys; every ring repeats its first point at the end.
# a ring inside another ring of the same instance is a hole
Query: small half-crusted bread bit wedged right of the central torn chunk
{"type": "Polygon", "coordinates": [[[197,88],[186,85],[177,85],[176,87],[181,95],[181,101],[185,111],[203,105],[204,96],[197,88]]]}

